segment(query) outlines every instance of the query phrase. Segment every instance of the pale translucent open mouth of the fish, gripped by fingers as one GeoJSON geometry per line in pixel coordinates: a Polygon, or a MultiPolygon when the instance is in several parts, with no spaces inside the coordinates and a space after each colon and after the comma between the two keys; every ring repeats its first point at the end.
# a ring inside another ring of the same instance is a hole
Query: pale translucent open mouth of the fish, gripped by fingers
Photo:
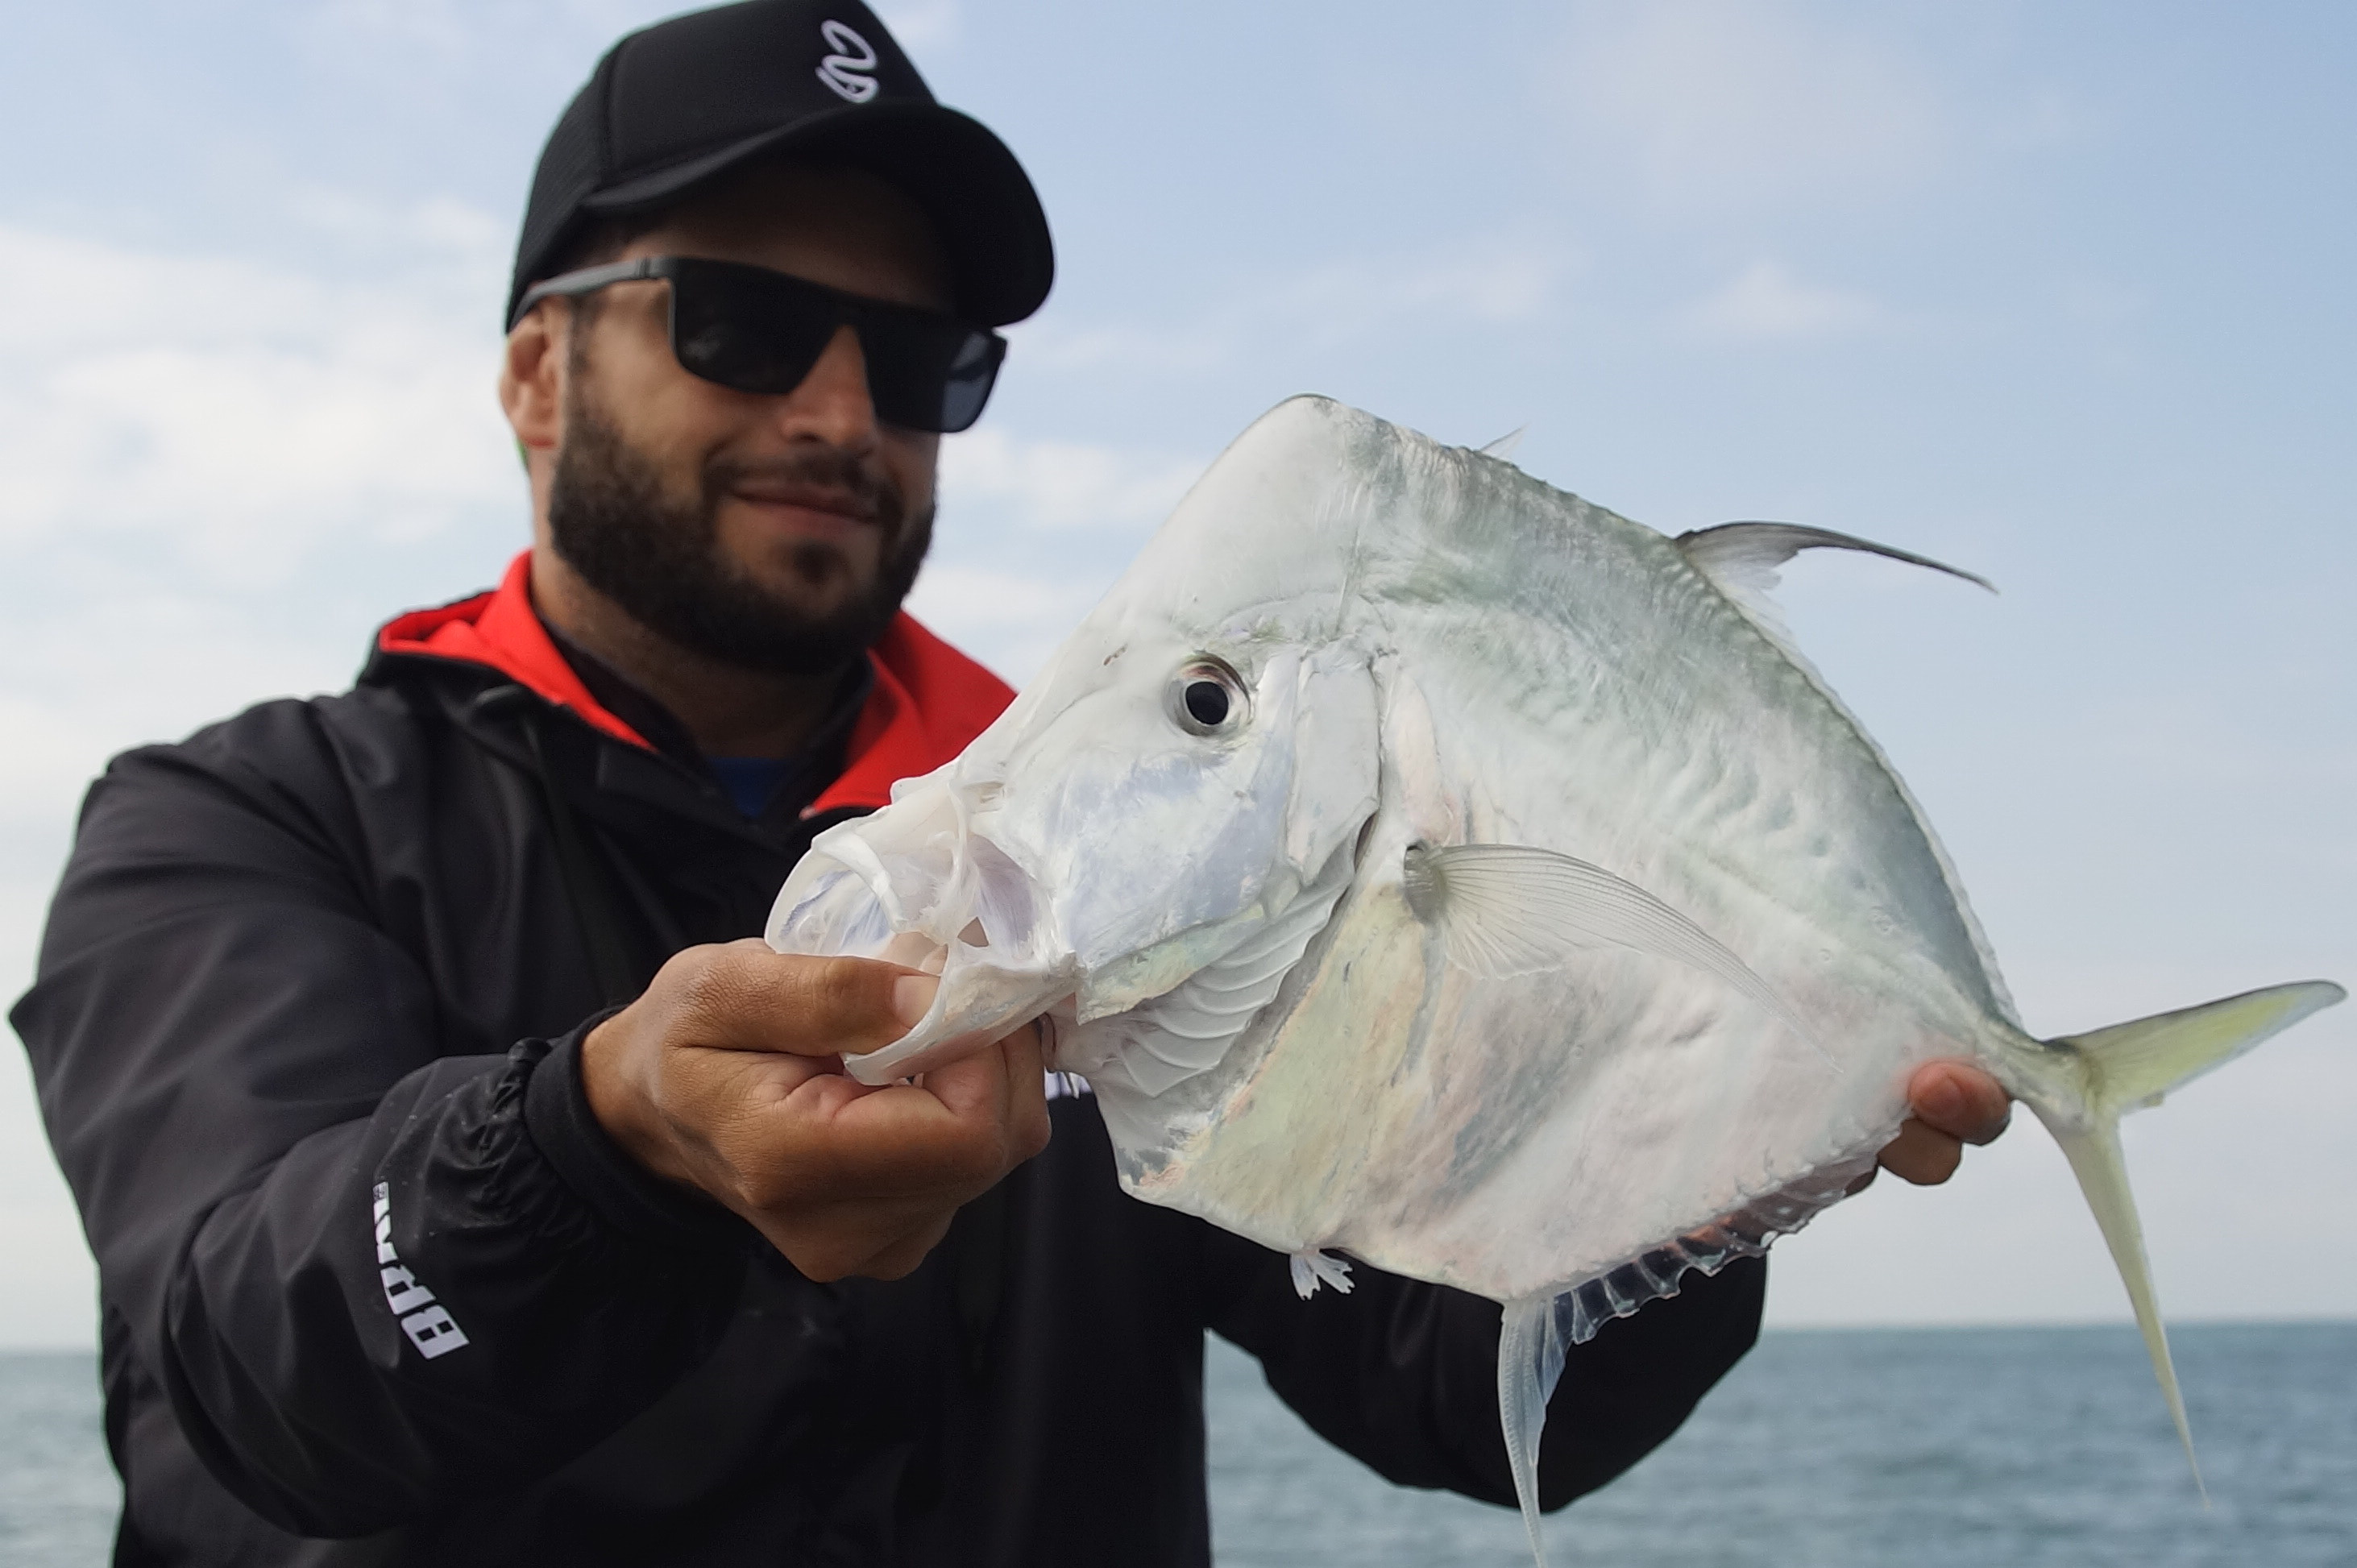
{"type": "Polygon", "coordinates": [[[912,1030],[844,1059],[867,1085],[955,1061],[1072,995],[1072,955],[1056,941],[1047,894],[976,825],[995,785],[945,773],[818,835],[771,908],[778,953],[877,957],[940,976],[912,1030]]]}

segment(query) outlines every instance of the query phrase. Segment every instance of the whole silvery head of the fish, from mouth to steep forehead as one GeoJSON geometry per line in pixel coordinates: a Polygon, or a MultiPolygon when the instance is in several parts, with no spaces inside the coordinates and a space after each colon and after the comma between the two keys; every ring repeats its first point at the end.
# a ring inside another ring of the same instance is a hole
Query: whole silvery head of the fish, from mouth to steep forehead
{"type": "Polygon", "coordinates": [[[1348,552],[1296,538],[1332,507],[1289,455],[1230,448],[997,724],[813,839],[771,946],[943,979],[856,1078],[1068,997],[1080,1026],[1124,1014],[1334,905],[1376,806],[1376,679],[1336,608],[1348,552]]]}

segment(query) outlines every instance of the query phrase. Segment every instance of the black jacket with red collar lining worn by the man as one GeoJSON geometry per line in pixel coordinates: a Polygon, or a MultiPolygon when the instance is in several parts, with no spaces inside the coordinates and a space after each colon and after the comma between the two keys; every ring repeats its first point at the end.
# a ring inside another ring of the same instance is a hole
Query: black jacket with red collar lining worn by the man
{"type": "MultiPolygon", "coordinates": [[[[596,1127],[585,1023],[1004,700],[896,637],[922,670],[879,663],[816,813],[747,823],[547,658],[391,632],[351,693],[108,766],[14,1023],[99,1259],[120,1563],[1207,1563],[1207,1327],[1384,1476],[1511,1500],[1497,1306],[1296,1299],[1127,1198],[1087,1096],[889,1285],[804,1280],[596,1127]]],[[[1551,1504],[1676,1429],[1761,1285],[1572,1353],[1551,1504]]]]}

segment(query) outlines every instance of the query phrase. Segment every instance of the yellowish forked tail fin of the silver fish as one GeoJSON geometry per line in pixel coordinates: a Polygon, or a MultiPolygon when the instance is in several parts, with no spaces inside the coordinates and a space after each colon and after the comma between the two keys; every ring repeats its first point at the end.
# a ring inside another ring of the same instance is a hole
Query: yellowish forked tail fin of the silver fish
{"type": "MultiPolygon", "coordinates": [[[[2161,1094],[2185,1080],[2232,1061],[2267,1035],[2291,1028],[2345,995],[2329,981],[2270,986],[2223,1002],[2204,1002],[2051,1042],[2079,1056],[2084,1099],[2069,1113],[2034,1108],[2069,1158],[2079,1191],[2095,1210],[2102,1240],[2112,1247],[2112,1261],[2119,1264],[2119,1280],[2128,1287],[2128,1304],[2135,1309],[2135,1327],[2143,1330],[2145,1351],[2152,1353],[2152,1375],[2161,1379],[2161,1394],[2168,1398],[2168,1419],[2178,1424],[2185,1462],[2194,1467],[2194,1485],[2201,1485],[2201,1464],[2194,1460],[2194,1434],[2185,1424],[2178,1370],[2168,1361],[2168,1335],[2161,1330],[2161,1311],[2152,1297],[2145,1226],[2135,1219],[2135,1195],[2128,1191],[2128,1167],[2119,1153],[2119,1118],[2157,1106],[2161,1094]]],[[[2201,1497],[2209,1500],[2209,1488],[2201,1488],[2201,1497]]]]}

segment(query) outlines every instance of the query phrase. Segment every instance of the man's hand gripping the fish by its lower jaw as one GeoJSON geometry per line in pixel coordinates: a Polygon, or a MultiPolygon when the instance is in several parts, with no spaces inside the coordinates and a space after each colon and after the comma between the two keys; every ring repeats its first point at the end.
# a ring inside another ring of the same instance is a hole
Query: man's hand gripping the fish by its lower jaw
{"type": "Polygon", "coordinates": [[[900,1278],[1049,1132],[1037,1026],[907,1085],[841,1073],[841,1056],[905,1035],[936,986],[759,941],[688,948],[582,1042],[589,1108],[634,1160],[742,1214],[804,1276],[900,1278]]]}

